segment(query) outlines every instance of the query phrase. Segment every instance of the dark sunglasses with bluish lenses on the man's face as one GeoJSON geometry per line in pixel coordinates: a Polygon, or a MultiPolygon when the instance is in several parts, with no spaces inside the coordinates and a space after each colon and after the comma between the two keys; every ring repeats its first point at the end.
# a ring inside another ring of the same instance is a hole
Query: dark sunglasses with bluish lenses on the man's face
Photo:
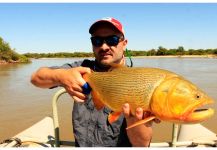
{"type": "Polygon", "coordinates": [[[122,37],[119,37],[117,35],[111,35],[107,37],[100,37],[100,36],[93,36],[90,38],[91,43],[95,47],[100,47],[105,42],[108,46],[116,46],[120,42],[120,39],[123,39],[122,37]]]}

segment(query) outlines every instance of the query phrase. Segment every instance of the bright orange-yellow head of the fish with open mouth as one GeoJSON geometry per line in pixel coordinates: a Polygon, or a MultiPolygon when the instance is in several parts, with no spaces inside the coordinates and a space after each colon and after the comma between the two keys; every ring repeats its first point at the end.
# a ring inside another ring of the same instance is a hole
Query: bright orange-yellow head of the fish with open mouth
{"type": "Polygon", "coordinates": [[[182,77],[165,79],[154,91],[151,101],[153,113],[161,120],[174,123],[199,123],[214,114],[213,99],[196,85],[182,77]]]}

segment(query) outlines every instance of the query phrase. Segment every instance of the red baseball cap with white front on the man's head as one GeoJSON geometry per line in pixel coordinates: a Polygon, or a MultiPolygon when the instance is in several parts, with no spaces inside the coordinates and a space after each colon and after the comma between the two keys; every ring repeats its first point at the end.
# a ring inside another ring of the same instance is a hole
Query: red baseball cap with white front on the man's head
{"type": "Polygon", "coordinates": [[[122,24],[121,24],[117,19],[114,19],[114,18],[112,18],[112,17],[102,18],[102,19],[97,20],[96,22],[94,22],[94,23],[90,26],[89,33],[90,33],[90,34],[93,34],[96,25],[98,25],[98,24],[100,24],[100,23],[103,23],[103,22],[107,22],[107,23],[112,24],[116,29],[118,29],[118,31],[120,31],[120,32],[124,35],[124,29],[123,29],[122,24]]]}

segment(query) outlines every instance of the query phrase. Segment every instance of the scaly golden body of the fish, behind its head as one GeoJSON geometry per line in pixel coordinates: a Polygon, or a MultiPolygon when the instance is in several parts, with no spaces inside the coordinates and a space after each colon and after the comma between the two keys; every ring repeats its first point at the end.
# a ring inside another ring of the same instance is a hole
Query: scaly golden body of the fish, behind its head
{"type": "Polygon", "coordinates": [[[154,89],[167,75],[171,73],[154,68],[118,68],[111,72],[94,72],[89,82],[114,111],[121,111],[124,103],[129,103],[133,109],[139,106],[147,110],[154,89]]]}

